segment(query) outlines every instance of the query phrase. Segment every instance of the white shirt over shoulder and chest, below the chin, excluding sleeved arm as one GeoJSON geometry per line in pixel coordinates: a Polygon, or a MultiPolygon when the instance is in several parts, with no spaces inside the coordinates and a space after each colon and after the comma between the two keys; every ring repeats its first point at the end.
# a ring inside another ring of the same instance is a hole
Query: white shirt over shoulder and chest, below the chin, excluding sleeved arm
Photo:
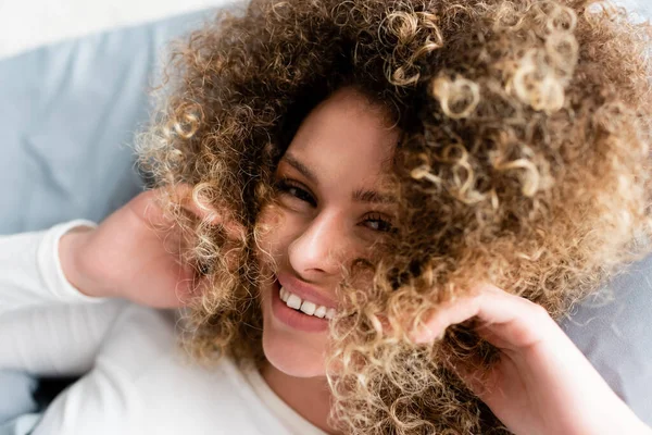
{"type": "Polygon", "coordinates": [[[287,433],[231,359],[192,361],[176,325],[174,312],[125,308],[95,368],[54,400],[35,434],[287,433]]]}

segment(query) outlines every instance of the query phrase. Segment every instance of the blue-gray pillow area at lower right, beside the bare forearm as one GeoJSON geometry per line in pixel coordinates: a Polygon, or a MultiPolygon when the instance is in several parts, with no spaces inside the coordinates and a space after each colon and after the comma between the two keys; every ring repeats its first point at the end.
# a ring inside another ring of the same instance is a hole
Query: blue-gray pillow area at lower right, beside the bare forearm
{"type": "Polygon", "coordinates": [[[636,414],[652,426],[652,256],[578,303],[562,328],[636,414]]]}

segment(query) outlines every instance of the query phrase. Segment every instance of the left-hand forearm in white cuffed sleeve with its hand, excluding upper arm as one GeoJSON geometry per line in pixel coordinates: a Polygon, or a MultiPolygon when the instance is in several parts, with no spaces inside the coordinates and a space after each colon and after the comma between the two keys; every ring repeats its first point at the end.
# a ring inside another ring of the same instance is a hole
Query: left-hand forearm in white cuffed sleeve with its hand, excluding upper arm
{"type": "MultiPolygon", "coordinates": [[[[195,286],[181,264],[186,244],[145,191],[100,225],[75,220],[45,232],[0,237],[0,313],[34,304],[128,299],[155,308],[179,307],[195,286]]],[[[179,195],[188,197],[183,185],[179,195]]],[[[201,215],[192,204],[185,206],[201,215]]]]}

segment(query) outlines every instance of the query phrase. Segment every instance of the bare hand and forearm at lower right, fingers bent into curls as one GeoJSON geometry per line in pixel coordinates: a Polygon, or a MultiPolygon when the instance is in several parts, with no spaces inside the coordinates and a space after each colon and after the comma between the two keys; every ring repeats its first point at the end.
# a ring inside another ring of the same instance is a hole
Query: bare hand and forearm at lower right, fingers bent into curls
{"type": "Polygon", "coordinates": [[[492,285],[443,303],[413,338],[430,343],[471,318],[500,350],[488,372],[454,370],[515,434],[652,434],[540,306],[492,285]]]}

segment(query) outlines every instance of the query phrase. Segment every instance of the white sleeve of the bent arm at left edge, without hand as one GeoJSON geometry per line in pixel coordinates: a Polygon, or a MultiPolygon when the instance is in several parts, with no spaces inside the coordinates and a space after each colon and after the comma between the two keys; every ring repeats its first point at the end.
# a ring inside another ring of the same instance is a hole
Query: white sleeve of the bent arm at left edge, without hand
{"type": "Polygon", "coordinates": [[[85,220],[0,237],[0,369],[37,375],[88,371],[103,337],[128,304],[92,298],[61,269],[59,239],[85,220]]]}

